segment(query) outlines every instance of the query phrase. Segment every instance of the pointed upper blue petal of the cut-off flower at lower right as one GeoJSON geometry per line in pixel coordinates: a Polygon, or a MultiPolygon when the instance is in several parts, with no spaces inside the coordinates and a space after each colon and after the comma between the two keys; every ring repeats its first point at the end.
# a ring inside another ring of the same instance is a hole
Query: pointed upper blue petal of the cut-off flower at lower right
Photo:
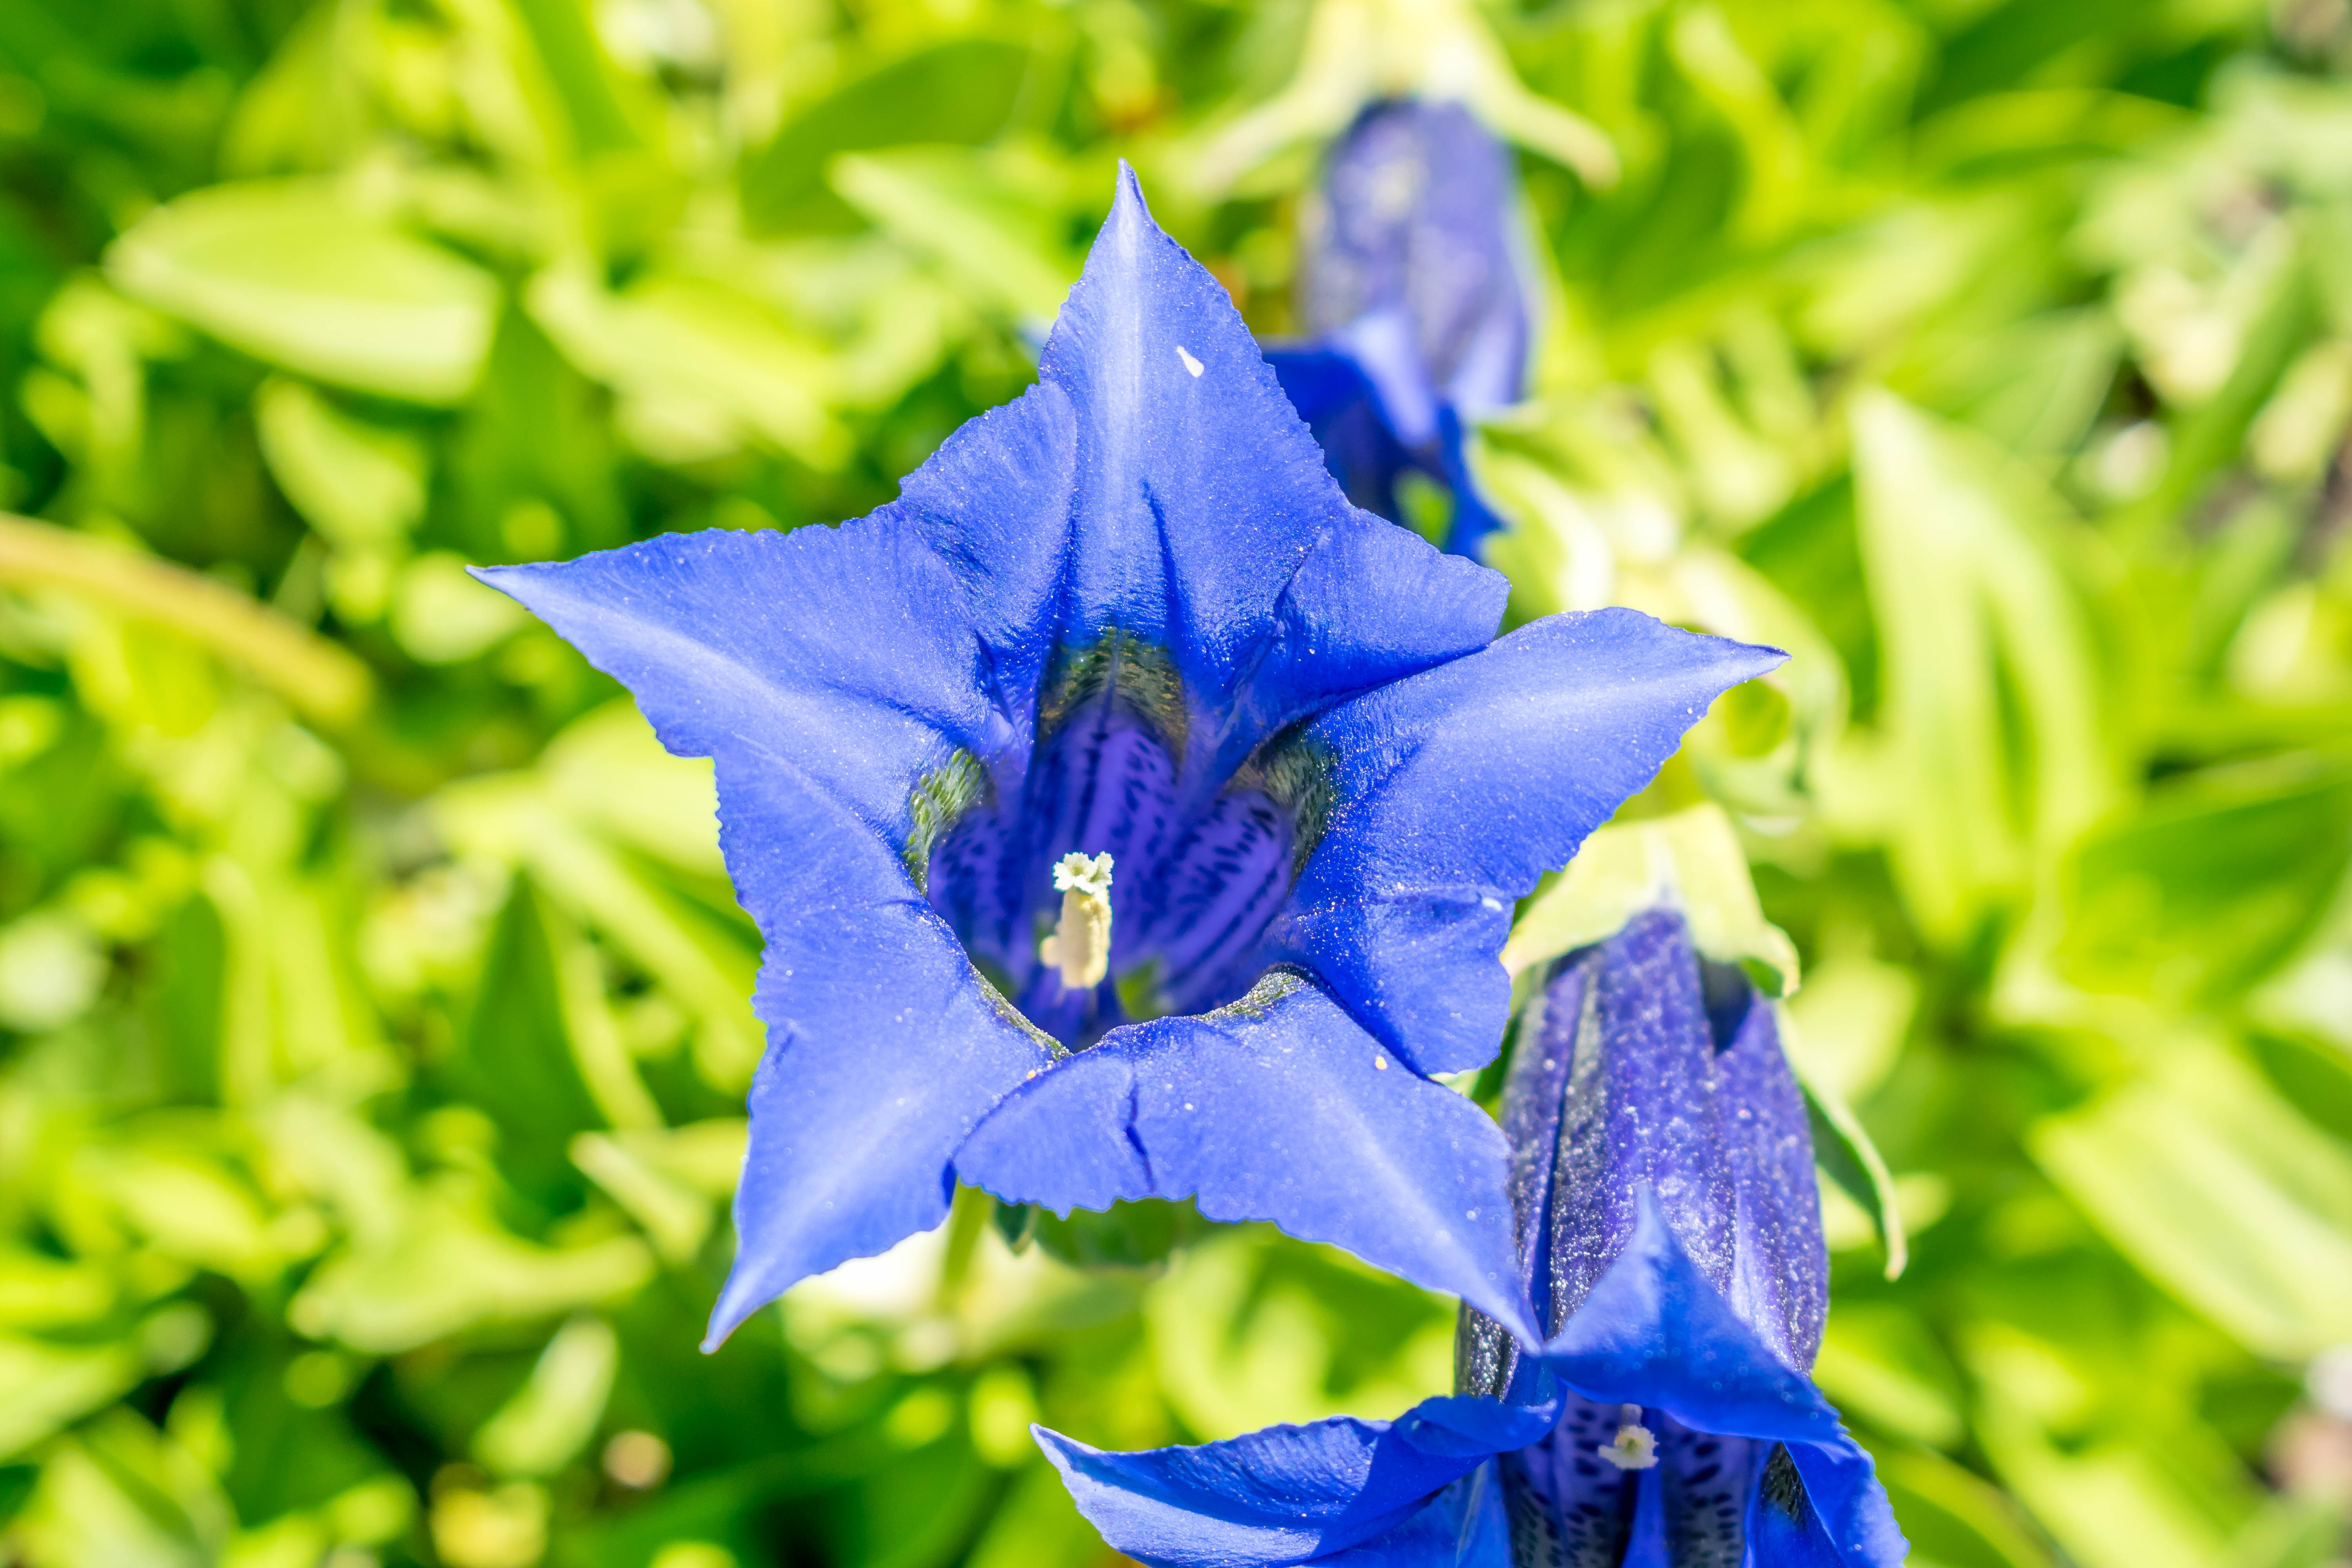
{"type": "Polygon", "coordinates": [[[1564,1385],[1693,1432],[1839,1446],[1837,1413],[1731,1314],[1644,1190],[1625,1253],[1543,1345],[1564,1385]]]}

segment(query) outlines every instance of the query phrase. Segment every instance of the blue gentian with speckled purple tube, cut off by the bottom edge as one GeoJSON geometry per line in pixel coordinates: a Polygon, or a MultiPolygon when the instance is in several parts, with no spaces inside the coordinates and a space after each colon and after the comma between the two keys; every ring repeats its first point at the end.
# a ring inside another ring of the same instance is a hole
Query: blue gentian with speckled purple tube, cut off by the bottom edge
{"type": "Polygon", "coordinates": [[[1395,1422],[1152,1453],[1040,1427],[1103,1537],[1183,1568],[1900,1563],[1806,1378],[1828,1255],[1771,1004],[1642,914],[1531,1004],[1503,1124],[1541,1347],[1465,1309],[1461,1392],[1395,1422]]]}

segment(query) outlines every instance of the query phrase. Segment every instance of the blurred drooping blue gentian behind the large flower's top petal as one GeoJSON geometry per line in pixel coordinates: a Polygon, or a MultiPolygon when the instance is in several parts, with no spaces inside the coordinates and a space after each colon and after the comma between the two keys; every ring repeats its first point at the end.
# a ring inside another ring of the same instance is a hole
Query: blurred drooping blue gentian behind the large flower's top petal
{"type": "Polygon", "coordinates": [[[1446,548],[1503,527],[1463,461],[1463,423],[1519,402],[1529,306],[1510,150],[1458,103],[1369,106],[1308,205],[1308,346],[1268,355],[1348,498],[1404,520],[1397,480],[1454,494],[1446,548]]]}

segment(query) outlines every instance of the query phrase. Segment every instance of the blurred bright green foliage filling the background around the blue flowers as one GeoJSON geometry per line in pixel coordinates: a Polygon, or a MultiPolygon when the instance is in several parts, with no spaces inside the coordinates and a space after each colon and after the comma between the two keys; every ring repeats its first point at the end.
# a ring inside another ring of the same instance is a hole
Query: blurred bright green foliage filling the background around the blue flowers
{"type": "Polygon", "coordinates": [[[971,1194],[696,1354],[708,769],[461,571],[889,498],[1120,155],[1279,334],[1414,87],[1526,148],[1512,614],[1797,654],[1635,813],[1729,811],[1893,1168],[1820,1378],[1915,1561],[2340,1554],[2347,68],[2343,0],[0,7],[0,1561],[1077,1568],[1033,1418],[1446,1387],[1348,1258],[971,1194]]]}

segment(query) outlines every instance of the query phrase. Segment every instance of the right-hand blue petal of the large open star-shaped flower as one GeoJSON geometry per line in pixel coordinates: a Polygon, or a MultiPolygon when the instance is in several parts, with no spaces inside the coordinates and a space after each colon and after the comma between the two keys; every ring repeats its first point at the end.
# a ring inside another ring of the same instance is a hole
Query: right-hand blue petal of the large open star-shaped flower
{"type": "Polygon", "coordinates": [[[1785,656],[1630,609],[1550,616],[1308,724],[1329,830],[1268,929],[1421,1072],[1494,1056],[1512,905],[1785,656]]]}

